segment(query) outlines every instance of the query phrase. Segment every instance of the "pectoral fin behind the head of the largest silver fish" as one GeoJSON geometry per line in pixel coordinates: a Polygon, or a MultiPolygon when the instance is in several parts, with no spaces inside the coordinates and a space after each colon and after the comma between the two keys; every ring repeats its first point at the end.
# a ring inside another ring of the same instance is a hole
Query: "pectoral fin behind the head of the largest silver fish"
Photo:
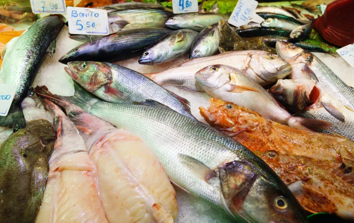
{"type": "Polygon", "coordinates": [[[217,177],[215,172],[213,172],[209,167],[207,167],[204,163],[199,160],[190,157],[189,155],[185,155],[182,153],[178,153],[179,162],[181,162],[185,167],[189,169],[195,176],[208,182],[210,178],[217,177]]]}

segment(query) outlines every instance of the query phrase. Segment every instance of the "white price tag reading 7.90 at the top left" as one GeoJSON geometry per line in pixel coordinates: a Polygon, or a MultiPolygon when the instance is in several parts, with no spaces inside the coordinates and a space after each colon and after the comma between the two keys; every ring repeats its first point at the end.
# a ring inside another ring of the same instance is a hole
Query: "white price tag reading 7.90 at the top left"
{"type": "Polygon", "coordinates": [[[43,12],[64,14],[66,12],[65,0],[30,0],[34,14],[43,12]]]}

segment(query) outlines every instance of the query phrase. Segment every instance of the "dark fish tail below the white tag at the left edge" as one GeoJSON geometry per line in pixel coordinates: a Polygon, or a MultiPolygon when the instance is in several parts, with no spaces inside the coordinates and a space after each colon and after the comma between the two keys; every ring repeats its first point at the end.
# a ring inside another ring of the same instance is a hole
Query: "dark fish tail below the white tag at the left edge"
{"type": "Polygon", "coordinates": [[[12,103],[7,116],[0,116],[0,126],[13,128],[14,132],[26,127],[20,104],[12,103]]]}

